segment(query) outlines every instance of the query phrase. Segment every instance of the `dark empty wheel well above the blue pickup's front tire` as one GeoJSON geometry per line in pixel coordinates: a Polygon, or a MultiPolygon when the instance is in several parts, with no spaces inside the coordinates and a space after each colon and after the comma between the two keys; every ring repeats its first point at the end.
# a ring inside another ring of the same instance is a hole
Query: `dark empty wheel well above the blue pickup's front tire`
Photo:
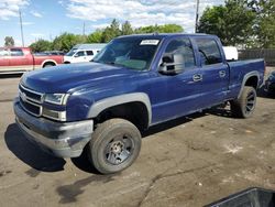
{"type": "Polygon", "coordinates": [[[139,130],[148,127],[148,111],[143,102],[129,102],[110,107],[100,112],[95,119],[96,124],[106,120],[121,118],[132,122],[139,130]]]}

